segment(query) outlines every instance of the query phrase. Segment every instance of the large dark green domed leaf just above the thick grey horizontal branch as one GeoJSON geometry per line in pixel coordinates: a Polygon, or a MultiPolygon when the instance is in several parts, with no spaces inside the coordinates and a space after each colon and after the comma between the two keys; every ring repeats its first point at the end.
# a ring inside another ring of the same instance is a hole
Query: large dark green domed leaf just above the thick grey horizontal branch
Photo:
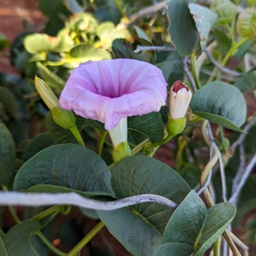
{"type": "MultiPolygon", "coordinates": [[[[51,185],[46,190],[62,191],[64,187],[65,191],[68,188],[113,196],[110,177],[107,164],[92,150],[75,144],[54,145],[22,165],[15,177],[14,190],[51,185]]],[[[44,190],[44,186],[36,189],[40,188],[44,190]]]]}

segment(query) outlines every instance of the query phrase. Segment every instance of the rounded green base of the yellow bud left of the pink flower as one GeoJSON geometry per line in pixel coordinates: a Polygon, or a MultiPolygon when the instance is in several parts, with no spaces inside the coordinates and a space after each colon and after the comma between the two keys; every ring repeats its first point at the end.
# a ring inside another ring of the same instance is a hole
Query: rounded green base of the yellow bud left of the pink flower
{"type": "Polygon", "coordinates": [[[76,125],[76,117],[72,111],[61,109],[60,107],[52,108],[52,119],[60,127],[70,129],[76,125]]]}

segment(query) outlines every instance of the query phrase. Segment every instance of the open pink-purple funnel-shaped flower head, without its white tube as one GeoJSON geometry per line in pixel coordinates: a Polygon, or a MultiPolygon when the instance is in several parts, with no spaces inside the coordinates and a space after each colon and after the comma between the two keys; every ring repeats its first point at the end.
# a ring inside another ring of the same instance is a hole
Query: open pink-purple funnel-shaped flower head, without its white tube
{"type": "Polygon", "coordinates": [[[71,72],[60,106],[112,130],[127,116],[159,111],[165,105],[166,86],[162,71],[143,61],[88,61],[71,72]]]}

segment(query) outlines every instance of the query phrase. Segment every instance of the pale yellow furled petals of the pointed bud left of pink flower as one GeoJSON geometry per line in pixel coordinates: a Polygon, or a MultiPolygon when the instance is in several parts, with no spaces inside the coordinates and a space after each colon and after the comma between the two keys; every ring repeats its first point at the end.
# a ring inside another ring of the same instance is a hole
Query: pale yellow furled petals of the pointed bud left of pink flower
{"type": "Polygon", "coordinates": [[[54,92],[52,92],[52,89],[50,88],[50,86],[44,82],[44,80],[36,76],[35,86],[38,94],[40,95],[40,97],[42,98],[42,100],[44,101],[44,103],[49,109],[59,107],[58,98],[56,97],[54,92]]]}

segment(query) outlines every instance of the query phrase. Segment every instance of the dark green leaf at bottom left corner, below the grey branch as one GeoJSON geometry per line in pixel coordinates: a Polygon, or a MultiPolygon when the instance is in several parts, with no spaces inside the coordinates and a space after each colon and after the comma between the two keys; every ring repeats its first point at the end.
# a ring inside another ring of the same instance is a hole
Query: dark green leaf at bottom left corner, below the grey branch
{"type": "Polygon", "coordinates": [[[42,225],[36,220],[24,220],[12,227],[3,237],[3,242],[8,255],[48,255],[47,249],[35,235],[42,225]]]}

